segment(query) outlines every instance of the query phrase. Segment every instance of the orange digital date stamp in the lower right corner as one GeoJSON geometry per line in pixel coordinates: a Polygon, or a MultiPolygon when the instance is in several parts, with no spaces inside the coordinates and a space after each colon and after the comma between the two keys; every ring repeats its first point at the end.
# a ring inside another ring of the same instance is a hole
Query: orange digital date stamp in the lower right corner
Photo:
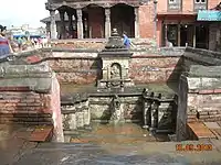
{"type": "Polygon", "coordinates": [[[212,151],[212,144],[177,144],[176,151],[179,152],[201,152],[201,151],[212,151]]]}

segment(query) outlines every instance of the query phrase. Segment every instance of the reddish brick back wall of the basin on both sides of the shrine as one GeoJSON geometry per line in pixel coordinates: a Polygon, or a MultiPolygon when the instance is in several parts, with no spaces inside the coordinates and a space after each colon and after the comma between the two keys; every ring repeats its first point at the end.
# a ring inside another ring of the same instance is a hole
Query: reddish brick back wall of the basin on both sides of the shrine
{"type": "MultiPolygon", "coordinates": [[[[60,82],[87,85],[94,84],[102,75],[102,63],[96,56],[88,57],[88,54],[82,53],[77,57],[72,54],[72,57],[59,58],[56,54],[49,64],[60,82]]],[[[180,56],[135,55],[130,61],[129,77],[136,84],[177,80],[181,73],[180,63],[180,56]]]]}

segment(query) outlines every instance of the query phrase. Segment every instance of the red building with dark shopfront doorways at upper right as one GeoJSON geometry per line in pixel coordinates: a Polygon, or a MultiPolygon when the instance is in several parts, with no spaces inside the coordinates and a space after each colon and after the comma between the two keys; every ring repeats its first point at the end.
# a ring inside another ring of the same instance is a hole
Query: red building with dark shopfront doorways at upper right
{"type": "Polygon", "coordinates": [[[164,46],[167,41],[175,46],[193,46],[210,48],[212,44],[214,24],[217,20],[199,20],[199,11],[213,10],[220,0],[159,0],[157,12],[158,44],[164,46]]]}

